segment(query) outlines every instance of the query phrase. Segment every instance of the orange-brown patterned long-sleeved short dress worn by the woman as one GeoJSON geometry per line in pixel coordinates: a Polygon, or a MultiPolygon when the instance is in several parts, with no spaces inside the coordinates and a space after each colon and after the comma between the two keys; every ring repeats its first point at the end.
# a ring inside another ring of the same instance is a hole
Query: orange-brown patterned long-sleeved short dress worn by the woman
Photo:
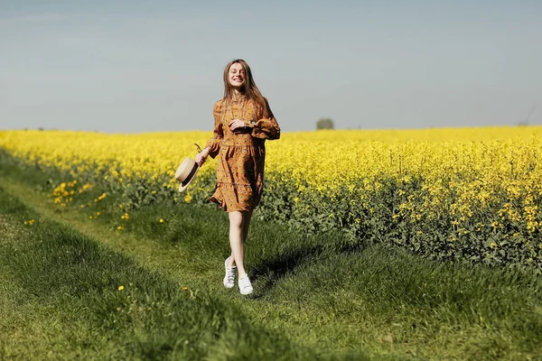
{"type": "Polygon", "coordinates": [[[215,127],[207,146],[210,157],[218,156],[217,185],[210,198],[227,212],[257,207],[264,189],[266,139],[280,138],[280,127],[266,101],[266,109],[253,100],[224,99],[213,107],[215,127]],[[247,127],[232,133],[229,122],[240,119],[247,127]]]}

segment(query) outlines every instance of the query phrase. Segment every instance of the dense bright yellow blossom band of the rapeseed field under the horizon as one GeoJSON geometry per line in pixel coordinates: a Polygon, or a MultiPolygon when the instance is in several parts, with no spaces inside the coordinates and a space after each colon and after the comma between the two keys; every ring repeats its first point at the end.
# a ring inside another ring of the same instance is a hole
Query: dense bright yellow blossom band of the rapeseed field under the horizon
{"type": "MultiPolygon", "coordinates": [[[[75,167],[79,174],[117,165],[122,171],[111,176],[118,179],[153,179],[159,174],[173,177],[182,159],[196,153],[194,143],[204,145],[209,137],[210,132],[3,131],[0,147],[27,162],[39,160],[66,171],[75,167]]],[[[381,173],[421,173],[439,180],[453,172],[512,180],[539,171],[541,145],[542,127],[534,126],[286,133],[266,143],[266,170],[291,172],[315,190],[381,173]]]]}

